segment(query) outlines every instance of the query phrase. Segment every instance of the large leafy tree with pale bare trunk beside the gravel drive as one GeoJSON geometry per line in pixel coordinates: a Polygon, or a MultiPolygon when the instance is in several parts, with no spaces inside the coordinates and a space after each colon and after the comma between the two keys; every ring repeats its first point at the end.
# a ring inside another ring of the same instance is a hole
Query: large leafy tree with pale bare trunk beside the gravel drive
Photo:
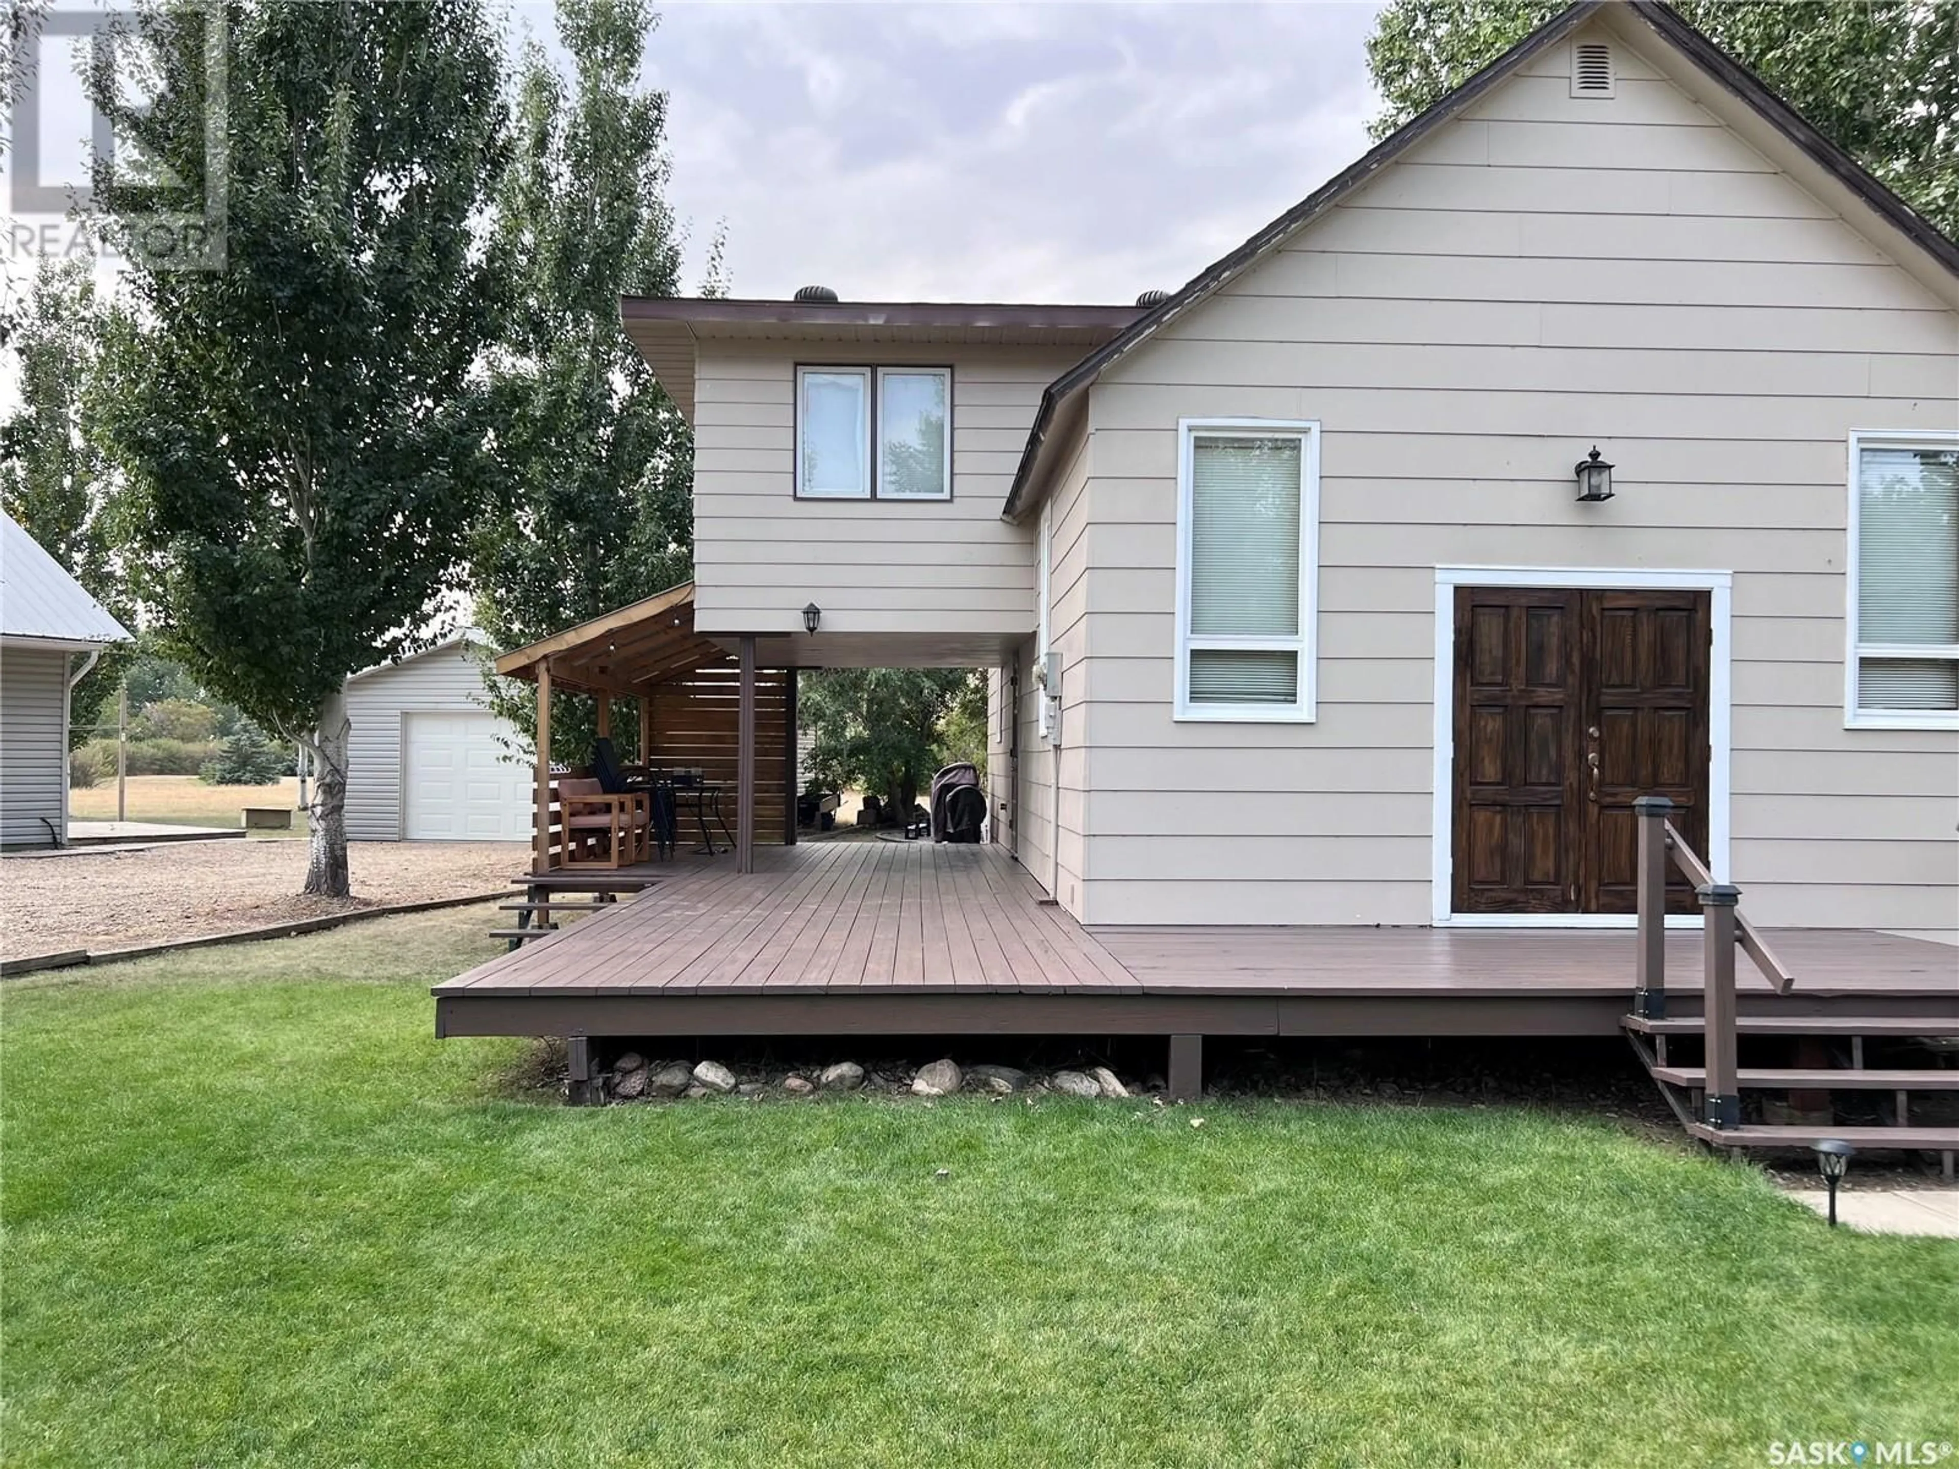
{"type": "MultiPolygon", "coordinates": [[[[119,135],[202,198],[200,8],[118,47],[119,135]]],[[[484,484],[472,370],[496,321],[482,213],[505,153],[480,0],[229,4],[225,264],[137,249],[153,180],[98,168],[135,325],[108,398],[163,648],[311,754],[308,893],[345,895],[347,674],[417,642],[484,484]]]]}

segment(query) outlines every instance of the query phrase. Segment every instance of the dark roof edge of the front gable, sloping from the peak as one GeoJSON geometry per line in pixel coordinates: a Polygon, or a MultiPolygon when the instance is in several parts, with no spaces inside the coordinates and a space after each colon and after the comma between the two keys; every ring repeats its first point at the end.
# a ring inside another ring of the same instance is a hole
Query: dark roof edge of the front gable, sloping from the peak
{"type": "Polygon", "coordinates": [[[1661,0],[1579,0],[1579,4],[1552,16],[1552,20],[1491,61],[1483,67],[1483,71],[1457,86],[1454,92],[1440,98],[1426,112],[1389,133],[1363,157],[1328,178],[1320,184],[1320,188],[1313,190],[1313,194],[1246,239],[1244,245],[1234,249],[1230,255],[1224,255],[1199,270],[1189,282],[1183,284],[1181,290],[1171,292],[1170,298],[1152,311],[1140,315],[1124,331],[1117,333],[1111,341],[1097,347],[1093,353],[1075,362],[1075,366],[1068,368],[1068,372],[1048,384],[1046,392],[1040,396],[1040,409],[1034,415],[1034,427],[1028,431],[1027,449],[1021,452],[1021,464],[1015,470],[1013,488],[1007,492],[1007,503],[1001,505],[1001,517],[1013,521],[1030,507],[1028,486],[1038,478],[1038,470],[1042,468],[1042,449],[1050,441],[1058,417],[1066,411],[1072,421],[1079,413],[1072,400],[1089,388],[1105,370],[1150,341],[1158,329],[1175,321],[1193,306],[1213,296],[1228,280],[1262,261],[1281,241],[1289,239],[1293,233],[1332,210],[1348,194],[1367,184],[1375,174],[1395,163],[1418,141],[1428,137],[1440,125],[1452,121],[1485,92],[1508,80],[1510,74],[1532,57],[1557,45],[1601,12],[1634,16],[1644,22],[1661,41],[1700,67],[1700,71],[1712,76],[1726,92],[1767,121],[1777,133],[1794,145],[1800,155],[1822,168],[1824,174],[1855,194],[1857,200],[1869,206],[1873,213],[1892,225],[1898,235],[1924,251],[1924,255],[1937,262],[1945,272],[1959,276],[1959,245],[1941,235],[1930,221],[1920,217],[1910,204],[1892,194],[1849,153],[1806,123],[1787,102],[1775,96],[1775,92],[1771,92],[1761,78],[1689,25],[1671,6],[1661,4],[1661,0]]]}

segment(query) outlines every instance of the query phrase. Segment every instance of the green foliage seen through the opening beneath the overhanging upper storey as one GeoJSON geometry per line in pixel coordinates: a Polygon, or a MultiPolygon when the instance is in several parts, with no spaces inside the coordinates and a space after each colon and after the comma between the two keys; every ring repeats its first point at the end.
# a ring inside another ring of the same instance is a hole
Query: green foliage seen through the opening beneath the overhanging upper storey
{"type": "MultiPolygon", "coordinates": [[[[809,770],[823,789],[862,787],[911,811],[932,774],[954,758],[950,736],[970,723],[974,699],[985,729],[985,676],[968,668],[823,668],[801,674],[797,715],[815,742],[809,770]]],[[[981,758],[974,764],[983,764],[981,758]]]]}

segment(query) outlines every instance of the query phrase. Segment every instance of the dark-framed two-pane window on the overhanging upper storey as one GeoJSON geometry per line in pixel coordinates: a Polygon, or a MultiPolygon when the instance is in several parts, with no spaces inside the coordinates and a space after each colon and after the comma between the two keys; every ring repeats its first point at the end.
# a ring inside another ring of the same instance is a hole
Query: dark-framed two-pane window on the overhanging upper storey
{"type": "Polygon", "coordinates": [[[950,499],[952,368],[797,368],[795,494],[950,499]]]}

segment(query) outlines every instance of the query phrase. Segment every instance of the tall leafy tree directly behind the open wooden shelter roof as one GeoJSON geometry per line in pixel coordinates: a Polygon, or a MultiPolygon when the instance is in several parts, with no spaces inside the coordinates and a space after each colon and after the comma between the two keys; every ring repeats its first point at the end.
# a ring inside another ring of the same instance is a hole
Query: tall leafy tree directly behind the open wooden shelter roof
{"type": "MultiPolygon", "coordinates": [[[[513,290],[490,356],[498,492],[472,560],[476,623],[500,648],[686,582],[693,558],[693,439],[619,325],[621,294],[680,288],[666,94],[639,80],[656,22],[645,0],[560,0],[556,16],[570,76],[525,49],[490,245],[513,290]]],[[[537,727],[529,686],[494,687],[492,707],[537,727]]],[[[592,713],[554,705],[552,742],[574,760],[592,713]]],[[[615,729],[637,738],[633,719],[615,729]]]]}

